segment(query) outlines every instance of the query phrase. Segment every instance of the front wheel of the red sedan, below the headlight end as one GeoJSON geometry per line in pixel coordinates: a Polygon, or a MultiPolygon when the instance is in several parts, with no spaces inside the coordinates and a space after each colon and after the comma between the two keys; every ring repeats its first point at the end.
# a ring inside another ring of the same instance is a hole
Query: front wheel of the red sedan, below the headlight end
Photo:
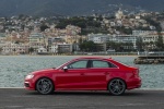
{"type": "Polygon", "coordinates": [[[39,78],[36,83],[36,90],[43,95],[51,94],[54,92],[54,84],[49,78],[39,78]]]}

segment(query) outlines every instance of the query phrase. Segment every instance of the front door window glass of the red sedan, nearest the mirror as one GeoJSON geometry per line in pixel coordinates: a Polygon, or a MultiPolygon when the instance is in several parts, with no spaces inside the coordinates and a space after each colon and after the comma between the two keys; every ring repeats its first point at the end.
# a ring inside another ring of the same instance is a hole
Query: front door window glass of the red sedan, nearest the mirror
{"type": "Polygon", "coordinates": [[[81,60],[68,65],[68,69],[85,69],[87,65],[87,60],[81,60]]]}

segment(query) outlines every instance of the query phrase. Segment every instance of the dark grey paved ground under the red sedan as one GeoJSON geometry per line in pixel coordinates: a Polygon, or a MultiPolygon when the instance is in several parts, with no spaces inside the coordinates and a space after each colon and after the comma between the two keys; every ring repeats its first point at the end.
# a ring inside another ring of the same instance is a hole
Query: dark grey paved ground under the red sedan
{"type": "Polygon", "coordinates": [[[124,96],[107,92],[36,92],[0,88],[0,109],[164,109],[164,90],[130,90],[124,96]]]}

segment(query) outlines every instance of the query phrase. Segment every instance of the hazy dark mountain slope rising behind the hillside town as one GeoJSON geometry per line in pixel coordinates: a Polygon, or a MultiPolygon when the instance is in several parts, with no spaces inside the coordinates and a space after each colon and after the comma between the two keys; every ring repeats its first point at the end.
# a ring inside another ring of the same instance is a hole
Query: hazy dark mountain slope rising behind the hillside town
{"type": "Polygon", "coordinates": [[[87,15],[125,11],[163,11],[164,0],[0,0],[0,16],[87,15]]]}

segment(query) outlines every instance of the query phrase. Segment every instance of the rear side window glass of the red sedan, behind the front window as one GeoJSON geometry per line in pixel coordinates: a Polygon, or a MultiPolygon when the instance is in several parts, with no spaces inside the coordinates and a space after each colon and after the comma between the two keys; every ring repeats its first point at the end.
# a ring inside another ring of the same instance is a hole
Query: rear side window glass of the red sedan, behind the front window
{"type": "Polygon", "coordinates": [[[92,60],[91,68],[117,68],[117,66],[107,61],[92,60]]]}

